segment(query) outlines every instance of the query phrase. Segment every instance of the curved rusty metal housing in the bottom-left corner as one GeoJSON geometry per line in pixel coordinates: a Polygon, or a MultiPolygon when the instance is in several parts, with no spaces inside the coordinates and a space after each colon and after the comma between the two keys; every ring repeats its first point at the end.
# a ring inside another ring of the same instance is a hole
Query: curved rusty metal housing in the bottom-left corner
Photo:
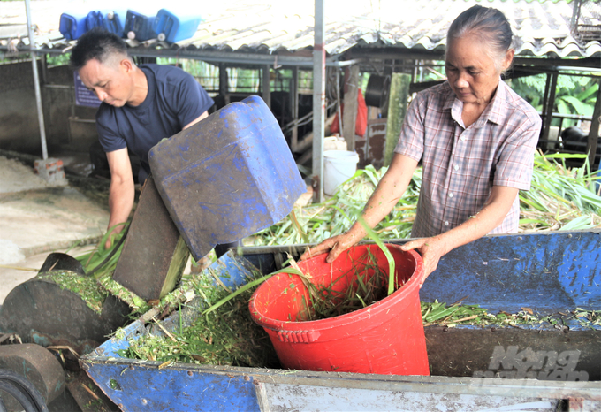
{"type": "MultiPolygon", "coordinates": [[[[0,369],[12,370],[23,378],[27,378],[47,404],[65,391],[63,367],[49,350],[39,345],[1,346],[0,369]]],[[[12,406],[8,404],[7,408],[11,410],[12,406]]]]}

